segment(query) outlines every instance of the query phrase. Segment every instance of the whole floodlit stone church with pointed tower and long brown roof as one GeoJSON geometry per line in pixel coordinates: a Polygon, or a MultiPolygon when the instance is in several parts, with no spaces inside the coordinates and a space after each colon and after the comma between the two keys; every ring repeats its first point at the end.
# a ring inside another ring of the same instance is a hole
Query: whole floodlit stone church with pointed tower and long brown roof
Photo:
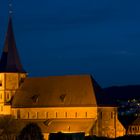
{"type": "Polygon", "coordinates": [[[14,118],[13,135],[30,122],[50,133],[79,133],[115,138],[125,134],[117,106],[103,103],[91,75],[28,77],[22,67],[9,17],[0,59],[0,115],[14,118]]]}

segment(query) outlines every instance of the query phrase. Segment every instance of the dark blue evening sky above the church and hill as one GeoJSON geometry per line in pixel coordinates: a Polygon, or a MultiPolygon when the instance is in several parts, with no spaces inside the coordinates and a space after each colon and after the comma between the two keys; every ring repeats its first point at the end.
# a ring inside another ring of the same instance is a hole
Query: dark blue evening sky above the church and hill
{"type": "MultiPolygon", "coordinates": [[[[0,0],[0,52],[8,22],[0,0]]],[[[140,84],[140,0],[13,0],[29,76],[92,74],[102,86],[140,84]]]]}

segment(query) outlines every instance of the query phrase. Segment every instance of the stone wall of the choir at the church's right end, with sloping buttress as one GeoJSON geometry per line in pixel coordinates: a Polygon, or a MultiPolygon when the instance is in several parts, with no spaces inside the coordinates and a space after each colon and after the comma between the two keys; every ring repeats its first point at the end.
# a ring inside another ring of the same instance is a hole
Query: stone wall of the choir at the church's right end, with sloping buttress
{"type": "Polygon", "coordinates": [[[98,107],[97,112],[93,135],[115,138],[125,134],[125,129],[118,120],[116,107],[98,107]]]}

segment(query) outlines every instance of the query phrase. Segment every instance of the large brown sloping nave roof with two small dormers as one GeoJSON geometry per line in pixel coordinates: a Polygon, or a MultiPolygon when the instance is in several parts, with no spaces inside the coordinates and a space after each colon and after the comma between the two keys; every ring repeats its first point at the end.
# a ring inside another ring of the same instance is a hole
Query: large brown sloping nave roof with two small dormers
{"type": "Polygon", "coordinates": [[[26,78],[12,107],[97,106],[90,75],[26,78]]]}

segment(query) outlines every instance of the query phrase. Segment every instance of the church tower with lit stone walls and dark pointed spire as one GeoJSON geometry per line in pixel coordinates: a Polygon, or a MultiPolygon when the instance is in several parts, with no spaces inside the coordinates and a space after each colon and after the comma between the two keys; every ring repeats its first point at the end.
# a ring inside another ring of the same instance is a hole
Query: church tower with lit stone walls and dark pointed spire
{"type": "Polygon", "coordinates": [[[16,48],[12,17],[10,15],[0,59],[0,114],[11,114],[11,102],[15,91],[22,84],[26,75],[27,73],[21,65],[16,48]]]}

